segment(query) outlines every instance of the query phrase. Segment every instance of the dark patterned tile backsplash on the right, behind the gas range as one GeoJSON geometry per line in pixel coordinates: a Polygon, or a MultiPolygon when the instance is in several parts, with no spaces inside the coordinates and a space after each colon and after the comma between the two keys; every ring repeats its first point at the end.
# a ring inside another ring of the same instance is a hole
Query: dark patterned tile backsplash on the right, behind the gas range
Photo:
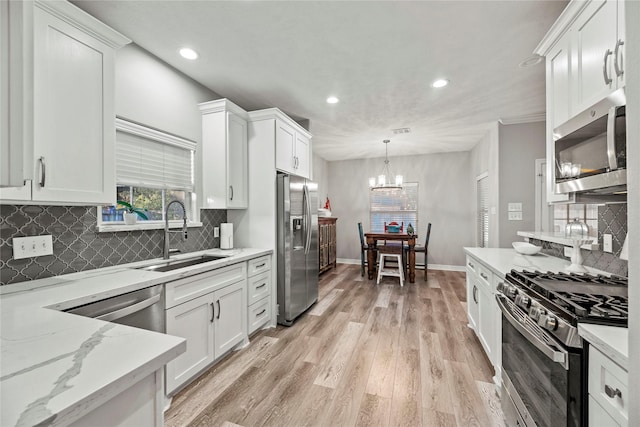
{"type": "MultiPolygon", "coordinates": [[[[612,253],[602,250],[589,251],[581,249],[583,264],[587,267],[597,268],[617,276],[628,276],[628,262],[620,259],[620,251],[622,244],[627,235],[627,204],[612,204],[598,206],[598,243],[602,248],[604,234],[611,234],[613,245],[612,253]]],[[[566,246],[542,242],[540,240],[531,239],[531,243],[542,246],[542,252],[558,258],[570,259],[564,256],[564,248],[566,246]]]]}

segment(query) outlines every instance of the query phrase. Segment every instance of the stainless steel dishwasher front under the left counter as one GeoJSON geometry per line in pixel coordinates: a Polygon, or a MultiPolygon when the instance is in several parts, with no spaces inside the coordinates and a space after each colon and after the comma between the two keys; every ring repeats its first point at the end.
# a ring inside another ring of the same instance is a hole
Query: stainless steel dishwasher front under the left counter
{"type": "Polygon", "coordinates": [[[164,333],[164,285],[151,286],[65,311],[164,333]]]}

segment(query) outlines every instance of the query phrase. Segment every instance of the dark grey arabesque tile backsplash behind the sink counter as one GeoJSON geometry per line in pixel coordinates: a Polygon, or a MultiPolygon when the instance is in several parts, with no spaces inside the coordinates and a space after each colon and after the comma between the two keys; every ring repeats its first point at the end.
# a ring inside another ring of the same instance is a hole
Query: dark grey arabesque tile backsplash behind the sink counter
{"type": "MultiPolygon", "coordinates": [[[[110,267],[162,256],[163,230],[98,233],[95,206],[0,205],[0,285],[110,267]],[[51,234],[53,255],[13,259],[13,238],[51,234]]],[[[217,248],[213,228],[227,211],[201,210],[202,227],[189,229],[182,242],[172,234],[171,248],[194,252],[217,248]]]]}

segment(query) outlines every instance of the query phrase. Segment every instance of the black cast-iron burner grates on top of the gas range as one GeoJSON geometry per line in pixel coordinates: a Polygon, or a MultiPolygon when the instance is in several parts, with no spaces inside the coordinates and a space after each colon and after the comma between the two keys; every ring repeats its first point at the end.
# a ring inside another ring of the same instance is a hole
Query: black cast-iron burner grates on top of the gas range
{"type": "Polygon", "coordinates": [[[511,282],[544,297],[560,312],[569,315],[572,323],[627,323],[629,303],[626,278],[515,270],[507,277],[511,282]]]}

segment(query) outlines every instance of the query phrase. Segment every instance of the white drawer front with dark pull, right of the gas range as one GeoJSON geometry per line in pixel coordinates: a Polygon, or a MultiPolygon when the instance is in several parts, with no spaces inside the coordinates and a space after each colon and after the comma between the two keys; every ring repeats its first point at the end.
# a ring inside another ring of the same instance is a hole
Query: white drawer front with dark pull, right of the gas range
{"type": "Polygon", "coordinates": [[[628,422],[629,374],[598,349],[589,347],[589,394],[620,424],[628,422]]]}

